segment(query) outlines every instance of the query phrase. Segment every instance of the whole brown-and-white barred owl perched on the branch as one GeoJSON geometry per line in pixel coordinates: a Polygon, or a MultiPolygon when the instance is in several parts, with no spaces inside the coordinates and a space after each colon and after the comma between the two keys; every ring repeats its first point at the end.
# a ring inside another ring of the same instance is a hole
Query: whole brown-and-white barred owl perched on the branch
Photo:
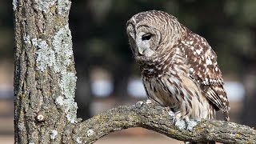
{"type": "Polygon", "coordinates": [[[222,110],[229,120],[222,72],[205,38],[158,10],[135,14],[126,26],[148,98],[176,118],[214,119],[222,110]]]}

